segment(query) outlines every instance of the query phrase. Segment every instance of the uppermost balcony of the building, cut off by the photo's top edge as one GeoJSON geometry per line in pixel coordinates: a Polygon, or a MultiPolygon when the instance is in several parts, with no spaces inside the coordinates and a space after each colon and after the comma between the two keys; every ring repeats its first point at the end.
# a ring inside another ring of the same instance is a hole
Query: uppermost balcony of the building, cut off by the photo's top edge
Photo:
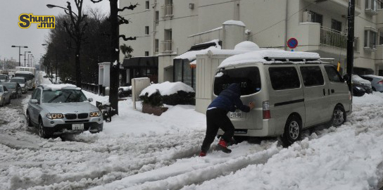
{"type": "MultiPolygon", "coordinates": [[[[349,0],[305,0],[316,4],[322,10],[335,14],[347,15],[349,11],[349,0]]],[[[360,0],[355,1],[355,15],[360,14],[360,0]]]]}

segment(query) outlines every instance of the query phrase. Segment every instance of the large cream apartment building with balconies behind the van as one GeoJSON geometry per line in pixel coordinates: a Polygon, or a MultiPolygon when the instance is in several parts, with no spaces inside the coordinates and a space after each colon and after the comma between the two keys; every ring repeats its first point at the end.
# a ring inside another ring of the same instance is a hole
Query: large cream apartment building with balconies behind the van
{"type": "MultiPolygon", "coordinates": [[[[184,82],[184,72],[193,73],[195,68],[179,71],[184,66],[173,59],[205,42],[218,39],[222,49],[233,49],[232,36],[227,38],[222,27],[227,20],[244,23],[245,34],[238,35],[261,48],[290,51],[287,40],[295,38],[298,46],[294,51],[334,58],[334,64],[339,61],[341,71],[346,71],[348,0],[120,0],[120,8],[136,2],[139,6],[134,11],[120,13],[130,20],[129,25],[120,25],[120,34],[137,40],[120,39],[120,45],[132,46],[133,58],[156,58],[158,82],[184,82]]],[[[382,7],[378,0],[356,0],[357,74],[383,75],[382,7]]]]}

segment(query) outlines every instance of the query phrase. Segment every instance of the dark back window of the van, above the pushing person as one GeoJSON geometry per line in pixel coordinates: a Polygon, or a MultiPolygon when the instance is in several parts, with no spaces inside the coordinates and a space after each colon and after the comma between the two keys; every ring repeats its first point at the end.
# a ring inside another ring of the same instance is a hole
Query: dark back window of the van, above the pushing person
{"type": "Polygon", "coordinates": [[[241,95],[254,94],[260,91],[259,69],[249,67],[218,71],[214,80],[214,94],[220,94],[232,83],[238,83],[241,86],[241,95]]]}

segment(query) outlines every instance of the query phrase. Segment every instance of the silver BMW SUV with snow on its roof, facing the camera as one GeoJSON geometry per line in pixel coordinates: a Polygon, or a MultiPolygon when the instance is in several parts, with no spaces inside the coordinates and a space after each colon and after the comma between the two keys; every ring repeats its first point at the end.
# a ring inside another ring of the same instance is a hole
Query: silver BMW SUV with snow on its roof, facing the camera
{"type": "Polygon", "coordinates": [[[39,129],[39,136],[101,132],[103,118],[80,88],[72,84],[43,84],[34,89],[27,107],[27,125],[39,129]]]}

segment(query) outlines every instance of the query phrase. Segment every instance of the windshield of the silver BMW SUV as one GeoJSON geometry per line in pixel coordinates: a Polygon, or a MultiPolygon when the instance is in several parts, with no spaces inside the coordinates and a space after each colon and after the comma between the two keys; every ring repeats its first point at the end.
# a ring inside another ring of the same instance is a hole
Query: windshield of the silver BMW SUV
{"type": "Polygon", "coordinates": [[[44,90],[42,93],[43,103],[59,103],[59,102],[82,102],[87,101],[87,97],[80,90],[76,89],[60,89],[56,91],[44,90]]]}

